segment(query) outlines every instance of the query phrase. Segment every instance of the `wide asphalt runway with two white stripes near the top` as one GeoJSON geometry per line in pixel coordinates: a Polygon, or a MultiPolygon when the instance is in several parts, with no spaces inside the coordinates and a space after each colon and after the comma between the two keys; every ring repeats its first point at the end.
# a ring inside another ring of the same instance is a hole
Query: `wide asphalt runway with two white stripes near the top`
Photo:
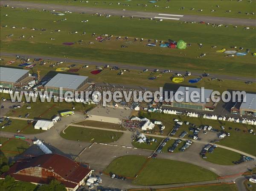
{"type": "Polygon", "coordinates": [[[45,9],[45,10],[55,10],[55,11],[71,11],[71,12],[84,12],[87,14],[107,14],[115,16],[125,16],[125,17],[140,17],[140,18],[155,18],[163,20],[178,20],[178,21],[205,21],[206,23],[215,24],[233,24],[233,25],[244,25],[244,26],[256,26],[256,20],[253,19],[239,19],[239,18],[229,18],[229,17],[209,17],[209,16],[199,16],[199,15],[182,15],[182,14],[170,14],[170,13],[159,13],[159,12],[147,12],[147,11],[128,11],[128,10],[118,10],[118,9],[101,9],[92,7],[79,7],[79,6],[69,6],[69,5],[54,5],[54,4],[43,4],[43,3],[30,3],[21,2],[13,0],[4,0],[0,2],[1,5],[9,5],[19,8],[31,8],[31,9],[45,9]]]}

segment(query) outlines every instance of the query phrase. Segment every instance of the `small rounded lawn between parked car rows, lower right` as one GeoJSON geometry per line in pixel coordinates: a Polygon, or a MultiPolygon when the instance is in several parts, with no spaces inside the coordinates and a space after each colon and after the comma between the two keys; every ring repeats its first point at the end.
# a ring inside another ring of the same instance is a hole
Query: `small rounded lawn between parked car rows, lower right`
{"type": "Polygon", "coordinates": [[[234,165],[232,161],[241,159],[241,154],[234,151],[229,151],[224,148],[215,148],[213,153],[206,154],[207,161],[219,164],[219,165],[234,165]]]}

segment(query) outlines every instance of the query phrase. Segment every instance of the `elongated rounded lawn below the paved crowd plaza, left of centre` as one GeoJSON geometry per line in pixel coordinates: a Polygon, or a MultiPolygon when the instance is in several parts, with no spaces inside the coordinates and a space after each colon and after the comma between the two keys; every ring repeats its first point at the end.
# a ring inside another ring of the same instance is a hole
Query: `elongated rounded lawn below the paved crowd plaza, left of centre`
{"type": "Polygon", "coordinates": [[[61,132],[61,137],[63,137],[64,139],[79,140],[90,143],[112,143],[116,140],[119,140],[119,138],[122,136],[121,132],[104,131],[73,126],[69,126],[64,132],[65,134],[61,132]]]}

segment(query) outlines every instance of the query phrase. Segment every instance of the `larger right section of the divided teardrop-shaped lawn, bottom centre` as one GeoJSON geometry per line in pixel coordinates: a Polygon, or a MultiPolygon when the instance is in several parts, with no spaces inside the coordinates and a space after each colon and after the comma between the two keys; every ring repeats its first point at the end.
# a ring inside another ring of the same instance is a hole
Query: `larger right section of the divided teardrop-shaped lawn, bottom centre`
{"type": "Polygon", "coordinates": [[[186,162],[151,159],[133,181],[139,185],[161,185],[215,180],[217,174],[186,162]]]}

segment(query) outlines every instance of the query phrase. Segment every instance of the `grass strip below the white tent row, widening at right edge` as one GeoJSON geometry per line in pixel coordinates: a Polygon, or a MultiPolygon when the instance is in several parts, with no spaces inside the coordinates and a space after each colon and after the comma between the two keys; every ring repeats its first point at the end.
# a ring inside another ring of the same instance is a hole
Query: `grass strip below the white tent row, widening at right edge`
{"type": "MultiPolygon", "coordinates": [[[[225,131],[230,133],[230,137],[224,138],[218,144],[224,145],[230,148],[235,148],[235,149],[238,149],[239,151],[243,151],[248,154],[252,154],[253,156],[256,156],[256,148],[252,146],[256,144],[256,138],[253,134],[248,133],[248,129],[253,129],[253,131],[256,131],[255,125],[247,125],[242,123],[203,119],[201,117],[196,118],[196,117],[186,117],[186,116],[171,115],[171,114],[140,112],[139,115],[141,117],[147,117],[148,119],[151,119],[151,120],[162,121],[163,125],[166,126],[166,129],[164,131],[167,131],[167,132],[172,130],[173,126],[168,124],[174,124],[173,122],[174,119],[179,119],[181,121],[189,121],[190,123],[193,123],[198,127],[201,125],[211,125],[213,128],[216,128],[219,130],[221,130],[220,128],[221,126],[224,126],[225,131]],[[229,130],[229,127],[232,127],[232,130],[229,130]],[[239,128],[241,131],[237,132],[235,131],[235,128],[239,128]]],[[[180,129],[177,131],[174,137],[178,137],[182,131],[189,132],[189,125],[181,125],[180,129]]],[[[187,136],[185,138],[187,138],[187,136]]]]}

